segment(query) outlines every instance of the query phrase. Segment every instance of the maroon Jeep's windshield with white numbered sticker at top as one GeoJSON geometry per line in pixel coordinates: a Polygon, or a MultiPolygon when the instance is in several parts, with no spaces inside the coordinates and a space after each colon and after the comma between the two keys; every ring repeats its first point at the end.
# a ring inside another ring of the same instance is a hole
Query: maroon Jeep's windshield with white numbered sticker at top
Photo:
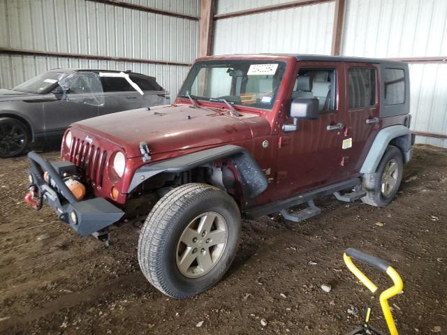
{"type": "Polygon", "coordinates": [[[191,68],[179,96],[225,99],[234,105],[271,110],[285,68],[283,61],[199,61],[191,68]]]}

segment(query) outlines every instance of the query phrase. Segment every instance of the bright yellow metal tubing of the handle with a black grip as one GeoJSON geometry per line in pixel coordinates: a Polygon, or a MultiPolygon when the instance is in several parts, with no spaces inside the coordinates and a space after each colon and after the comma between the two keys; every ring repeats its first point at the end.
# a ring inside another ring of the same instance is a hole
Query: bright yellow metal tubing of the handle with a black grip
{"type": "MultiPolygon", "coordinates": [[[[376,292],[376,290],[378,289],[377,286],[372,281],[370,281],[369,278],[365,276],[365,274],[363,274],[363,272],[360,271],[358,267],[356,267],[356,265],[354,265],[351,257],[344,253],[343,259],[349,271],[351,271],[354,276],[356,276],[371,292],[376,292]]],[[[394,297],[400,291],[402,291],[402,288],[404,288],[404,283],[402,282],[402,278],[400,278],[399,274],[395,269],[393,269],[393,267],[388,266],[388,268],[386,269],[386,274],[388,274],[388,276],[390,276],[390,278],[393,280],[394,285],[381,293],[379,301],[383,311],[383,315],[385,316],[386,324],[388,325],[388,329],[390,330],[390,335],[399,335],[397,333],[393,315],[390,311],[390,306],[388,305],[388,299],[394,297]]]]}

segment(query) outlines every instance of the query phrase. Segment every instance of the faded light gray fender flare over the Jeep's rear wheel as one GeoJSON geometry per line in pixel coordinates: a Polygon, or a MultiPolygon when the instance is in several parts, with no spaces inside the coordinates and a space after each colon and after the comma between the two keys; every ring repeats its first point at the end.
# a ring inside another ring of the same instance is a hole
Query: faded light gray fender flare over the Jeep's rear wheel
{"type": "Polygon", "coordinates": [[[388,147],[388,144],[395,140],[395,144],[402,151],[404,156],[404,163],[408,163],[411,159],[411,131],[406,126],[395,125],[383,128],[376,135],[374,142],[363,162],[360,173],[371,174],[376,172],[377,167],[383,157],[383,154],[388,147]]]}

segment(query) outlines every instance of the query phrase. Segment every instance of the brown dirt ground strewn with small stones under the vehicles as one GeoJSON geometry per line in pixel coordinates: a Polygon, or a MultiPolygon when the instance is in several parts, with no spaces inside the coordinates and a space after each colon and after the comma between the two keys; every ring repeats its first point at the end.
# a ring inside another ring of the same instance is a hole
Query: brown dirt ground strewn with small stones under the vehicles
{"type": "MultiPolygon", "coordinates": [[[[27,166],[26,158],[0,161],[0,334],[345,334],[360,321],[348,310],[366,303],[372,324],[386,330],[378,297],[344,267],[347,247],[400,272],[404,292],[390,300],[400,334],[447,334],[445,149],[416,147],[386,208],[325,198],[318,201],[323,214],[303,223],[246,221],[229,273],[181,301],[140,273],[138,223],[113,228],[105,248],[47,207],[24,204],[27,166]]],[[[372,269],[367,274],[380,288],[390,283],[372,269]]]]}

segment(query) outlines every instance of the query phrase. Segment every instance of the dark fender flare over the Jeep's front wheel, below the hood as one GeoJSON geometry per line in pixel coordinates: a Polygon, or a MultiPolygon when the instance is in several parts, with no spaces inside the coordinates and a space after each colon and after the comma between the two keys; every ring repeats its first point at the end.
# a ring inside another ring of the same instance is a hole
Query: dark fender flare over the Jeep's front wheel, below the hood
{"type": "Polygon", "coordinates": [[[197,151],[165,161],[142,165],[133,174],[127,193],[131,193],[143,181],[154,177],[156,174],[162,172],[184,172],[221,158],[227,158],[228,161],[235,165],[242,180],[245,197],[251,199],[265,191],[268,186],[268,180],[247,149],[227,144],[222,147],[197,151]]]}

